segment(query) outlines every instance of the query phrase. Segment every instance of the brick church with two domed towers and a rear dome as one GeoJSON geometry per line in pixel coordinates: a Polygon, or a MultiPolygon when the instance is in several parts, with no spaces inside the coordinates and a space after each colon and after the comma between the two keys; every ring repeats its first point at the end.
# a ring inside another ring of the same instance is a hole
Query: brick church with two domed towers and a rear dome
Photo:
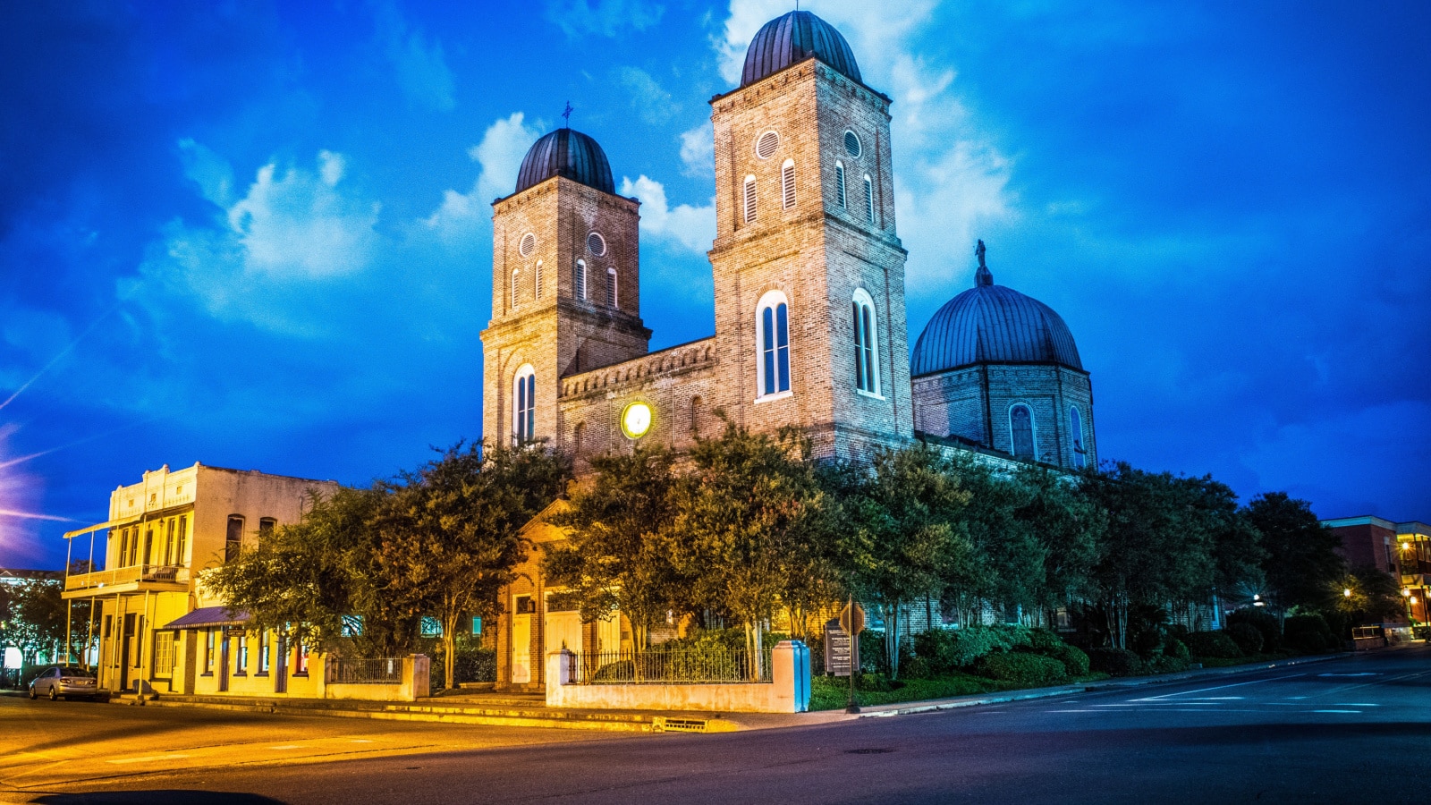
{"type": "MultiPolygon", "coordinates": [[[[797,425],[821,458],[924,440],[993,461],[1096,463],[1092,385],[1068,325],[996,285],[982,242],[973,286],[910,351],[889,106],[820,17],[760,29],[740,86],[711,99],[716,332],[654,352],[640,202],[615,193],[591,136],[538,139],[492,205],[485,437],[545,440],[581,474],[590,455],[718,435],[723,411],[751,431],[797,425]]],[[[620,619],[554,622],[575,613],[545,612],[529,564],[498,629],[504,685],[539,683],[545,647],[615,650],[624,632],[620,619]]]]}

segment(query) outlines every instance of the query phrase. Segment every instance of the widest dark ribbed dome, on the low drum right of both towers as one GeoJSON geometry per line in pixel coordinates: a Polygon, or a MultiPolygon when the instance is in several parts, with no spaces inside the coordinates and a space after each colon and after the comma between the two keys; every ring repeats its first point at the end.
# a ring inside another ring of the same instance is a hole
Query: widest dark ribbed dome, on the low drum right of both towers
{"type": "Polygon", "coordinates": [[[1073,334],[1053,308],[995,285],[987,269],[979,275],[977,285],[939,308],[919,334],[912,377],[970,364],[1059,364],[1083,371],[1073,334]]]}

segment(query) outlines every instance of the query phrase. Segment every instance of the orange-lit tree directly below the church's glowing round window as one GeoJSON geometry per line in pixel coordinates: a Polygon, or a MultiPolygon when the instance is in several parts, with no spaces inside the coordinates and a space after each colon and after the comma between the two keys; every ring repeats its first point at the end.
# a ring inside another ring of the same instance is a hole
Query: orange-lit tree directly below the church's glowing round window
{"type": "Polygon", "coordinates": [[[661,447],[592,458],[591,483],[551,520],[570,530],[570,540],[542,557],[548,584],[567,587],[582,620],[615,612],[631,619],[638,652],[667,612],[690,607],[690,580],[671,563],[665,541],[675,521],[673,458],[661,447]]]}

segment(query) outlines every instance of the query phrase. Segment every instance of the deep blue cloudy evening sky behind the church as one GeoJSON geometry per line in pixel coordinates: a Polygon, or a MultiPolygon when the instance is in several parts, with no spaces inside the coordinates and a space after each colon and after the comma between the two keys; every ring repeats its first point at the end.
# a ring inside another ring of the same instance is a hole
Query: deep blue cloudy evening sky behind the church
{"type": "MultiPolygon", "coordinates": [[[[0,6],[0,564],[160,464],[478,438],[488,205],[567,100],[644,202],[653,347],[713,331],[707,100],[790,4],[462,6],[0,6]]],[[[894,99],[912,344],[983,238],[1102,457],[1431,519],[1431,9],[801,7],[894,99]]]]}

